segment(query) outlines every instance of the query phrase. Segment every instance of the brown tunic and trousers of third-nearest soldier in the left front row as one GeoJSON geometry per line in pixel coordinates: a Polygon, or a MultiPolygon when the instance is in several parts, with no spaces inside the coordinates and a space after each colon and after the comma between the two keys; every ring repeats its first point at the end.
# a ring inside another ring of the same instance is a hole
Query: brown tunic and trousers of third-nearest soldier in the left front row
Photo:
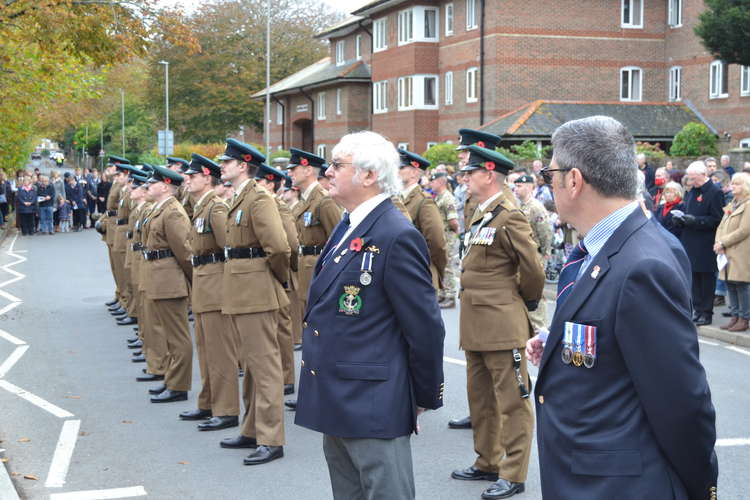
{"type": "Polygon", "coordinates": [[[177,199],[157,203],[149,216],[145,251],[171,251],[172,256],[144,263],[147,298],[152,301],[153,333],[166,341],[164,384],[173,391],[189,391],[193,344],[188,327],[188,288],[193,276],[188,235],[190,220],[177,199]]]}

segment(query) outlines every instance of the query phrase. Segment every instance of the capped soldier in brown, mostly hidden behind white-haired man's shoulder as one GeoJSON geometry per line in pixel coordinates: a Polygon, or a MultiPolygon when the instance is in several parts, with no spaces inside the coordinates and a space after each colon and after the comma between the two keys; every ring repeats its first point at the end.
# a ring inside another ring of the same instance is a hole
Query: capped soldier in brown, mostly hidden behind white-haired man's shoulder
{"type": "Polygon", "coordinates": [[[443,283],[448,254],[445,248],[445,233],[440,210],[432,196],[425,193],[419,185],[419,179],[430,167],[430,162],[405,149],[399,149],[398,153],[401,157],[398,173],[404,183],[401,198],[404,200],[414,226],[427,241],[427,248],[430,250],[432,286],[435,287],[437,293],[443,283]]]}

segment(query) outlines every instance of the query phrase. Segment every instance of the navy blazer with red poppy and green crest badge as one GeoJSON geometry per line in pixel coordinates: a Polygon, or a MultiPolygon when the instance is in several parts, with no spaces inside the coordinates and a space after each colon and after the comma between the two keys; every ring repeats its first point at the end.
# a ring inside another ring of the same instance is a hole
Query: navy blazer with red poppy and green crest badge
{"type": "Polygon", "coordinates": [[[321,268],[331,246],[310,285],[295,423],[344,438],[409,435],[417,406],[443,404],[445,329],[427,244],[386,199],[321,268]],[[349,249],[357,238],[359,252],[349,249]]]}

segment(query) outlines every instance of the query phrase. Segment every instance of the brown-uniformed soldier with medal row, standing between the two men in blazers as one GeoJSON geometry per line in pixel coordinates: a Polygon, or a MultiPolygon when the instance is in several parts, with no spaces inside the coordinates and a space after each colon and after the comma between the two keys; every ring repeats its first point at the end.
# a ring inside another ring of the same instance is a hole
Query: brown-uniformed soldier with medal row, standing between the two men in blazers
{"type": "Polygon", "coordinates": [[[527,308],[542,297],[544,270],[526,217],[503,190],[513,163],[489,149],[468,149],[463,171],[480,203],[462,261],[460,345],[478,457],[451,477],[495,481],[482,494],[489,500],[524,491],[534,418],[521,351],[534,334],[527,308]]]}

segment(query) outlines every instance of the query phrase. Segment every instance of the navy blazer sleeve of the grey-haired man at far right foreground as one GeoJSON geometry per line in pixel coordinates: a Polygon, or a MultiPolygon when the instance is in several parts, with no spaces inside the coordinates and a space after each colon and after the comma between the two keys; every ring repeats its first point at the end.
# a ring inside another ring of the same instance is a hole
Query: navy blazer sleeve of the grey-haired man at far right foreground
{"type": "Polygon", "coordinates": [[[623,284],[615,336],[659,447],[689,497],[704,499],[718,476],[716,425],[689,290],[669,264],[639,263],[623,284]],[[646,304],[656,313],[639,321],[646,304]]]}

